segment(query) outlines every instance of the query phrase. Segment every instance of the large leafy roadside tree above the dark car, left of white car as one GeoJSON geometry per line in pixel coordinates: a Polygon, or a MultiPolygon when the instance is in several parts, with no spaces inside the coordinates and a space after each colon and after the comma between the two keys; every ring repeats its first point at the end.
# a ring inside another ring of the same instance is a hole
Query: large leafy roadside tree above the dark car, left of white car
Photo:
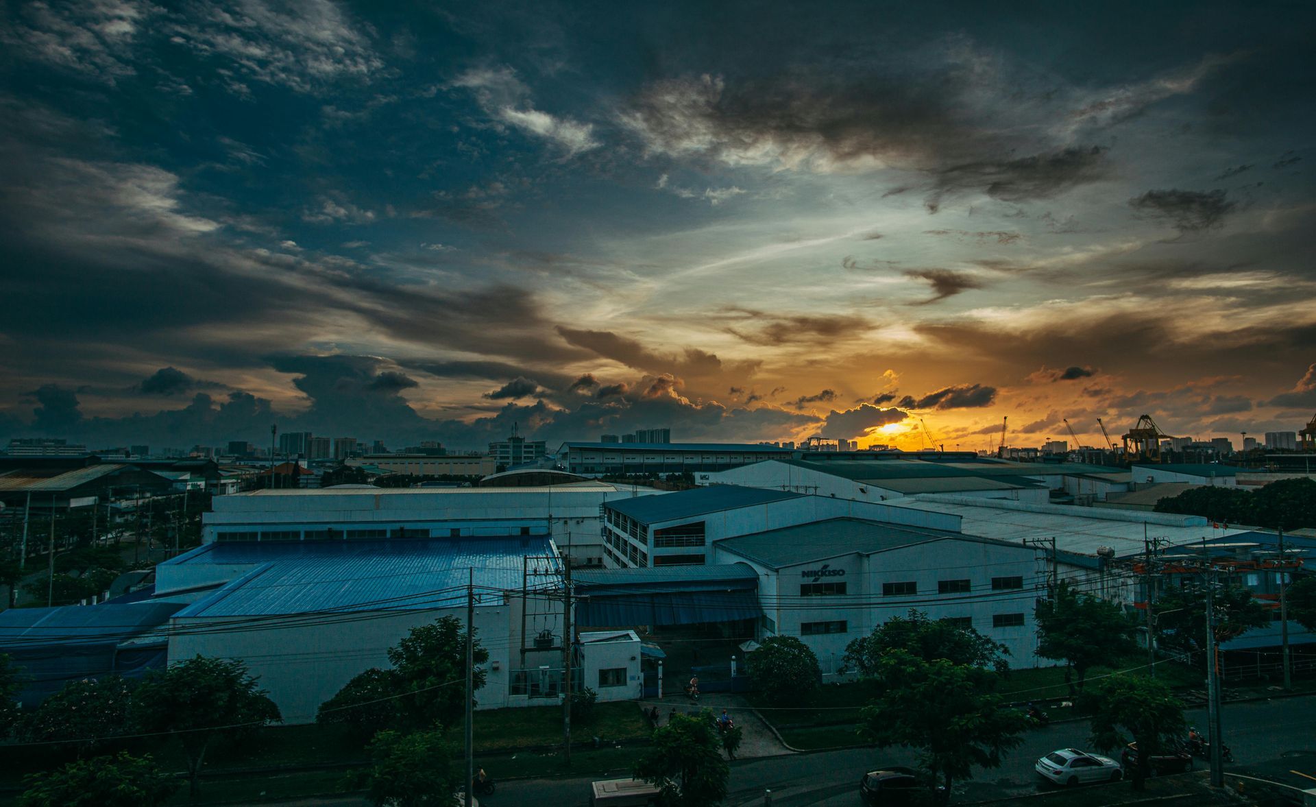
{"type": "Polygon", "coordinates": [[[949,794],[975,766],[998,768],[1023,742],[1026,717],[1003,708],[995,671],[895,649],[882,657],[875,677],[880,694],[859,712],[859,735],[882,748],[921,752],[933,789],[940,775],[949,794]]]}

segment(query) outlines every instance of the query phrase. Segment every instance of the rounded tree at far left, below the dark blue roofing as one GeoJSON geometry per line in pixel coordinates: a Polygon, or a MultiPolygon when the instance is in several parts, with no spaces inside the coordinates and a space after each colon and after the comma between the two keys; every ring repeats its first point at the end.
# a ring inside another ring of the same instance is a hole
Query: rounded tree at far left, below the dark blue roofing
{"type": "Polygon", "coordinates": [[[132,687],[120,675],[71,681],[33,711],[25,733],[33,742],[66,741],[87,754],[129,733],[132,702],[132,687]]]}

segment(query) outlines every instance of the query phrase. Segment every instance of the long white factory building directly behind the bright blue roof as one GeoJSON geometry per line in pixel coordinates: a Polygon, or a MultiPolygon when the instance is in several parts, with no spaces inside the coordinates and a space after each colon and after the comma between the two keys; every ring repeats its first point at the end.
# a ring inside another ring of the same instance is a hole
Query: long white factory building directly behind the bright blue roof
{"type": "Polygon", "coordinates": [[[297,541],[545,536],[572,563],[603,563],[599,508],[650,488],[605,482],[547,487],[337,486],[257,490],[215,499],[201,540],[297,541]]]}

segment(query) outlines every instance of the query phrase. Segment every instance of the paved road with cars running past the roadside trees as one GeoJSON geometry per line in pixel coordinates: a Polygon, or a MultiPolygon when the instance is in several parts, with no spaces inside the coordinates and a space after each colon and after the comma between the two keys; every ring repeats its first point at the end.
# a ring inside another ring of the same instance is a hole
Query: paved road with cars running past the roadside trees
{"type": "MultiPolygon", "coordinates": [[[[1188,712],[1190,723],[1205,728],[1204,710],[1188,712]]],[[[1225,707],[1225,741],[1233,748],[1237,765],[1278,758],[1287,752],[1316,750],[1316,696],[1287,698],[1225,707]]],[[[1025,735],[1024,744],[1011,753],[998,770],[978,771],[957,800],[1005,798],[1036,793],[1033,761],[1057,748],[1084,746],[1086,723],[1054,724],[1025,735]]],[[[913,754],[900,749],[850,749],[811,754],[788,754],[736,762],[732,766],[726,807],[763,803],[763,790],[772,790],[774,807],[854,807],[859,777],[882,765],[911,764],[913,754]]],[[[513,771],[490,771],[495,777],[513,771]]],[[[1316,771],[1312,771],[1316,773],[1316,771]]],[[[588,804],[590,781],[526,779],[499,785],[497,794],[482,799],[482,807],[521,804],[578,807],[588,804]]]]}

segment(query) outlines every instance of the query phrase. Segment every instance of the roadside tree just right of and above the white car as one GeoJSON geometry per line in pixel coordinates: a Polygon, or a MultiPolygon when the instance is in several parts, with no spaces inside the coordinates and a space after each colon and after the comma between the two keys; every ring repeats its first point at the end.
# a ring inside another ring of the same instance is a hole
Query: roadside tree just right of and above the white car
{"type": "Polygon", "coordinates": [[[1092,687],[1080,706],[1091,715],[1092,745],[1098,750],[1112,753],[1124,748],[1130,736],[1138,744],[1134,790],[1142,790],[1152,757],[1173,748],[1184,732],[1183,703],[1154,678],[1107,678],[1092,687]]]}

